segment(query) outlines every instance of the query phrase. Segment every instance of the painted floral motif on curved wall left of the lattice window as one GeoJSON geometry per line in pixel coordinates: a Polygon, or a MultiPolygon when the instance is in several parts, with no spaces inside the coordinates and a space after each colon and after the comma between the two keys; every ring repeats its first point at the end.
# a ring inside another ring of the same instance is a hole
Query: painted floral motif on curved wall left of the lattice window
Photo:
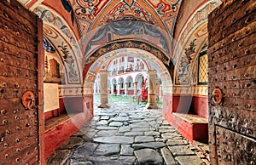
{"type": "Polygon", "coordinates": [[[189,83],[189,69],[191,60],[193,60],[195,56],[195,40],[189,43],[189,48],[185,48],[184,54],[181,57],[179,69],[177,72],[177,83],[187,84],[189,83]]]}

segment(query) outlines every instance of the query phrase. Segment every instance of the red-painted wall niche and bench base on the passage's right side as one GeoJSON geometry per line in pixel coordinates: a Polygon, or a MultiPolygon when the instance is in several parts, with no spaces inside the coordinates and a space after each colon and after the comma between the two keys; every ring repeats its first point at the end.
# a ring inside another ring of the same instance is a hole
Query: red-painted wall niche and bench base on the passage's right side
{"type": "Polygon", "coordinates": [[[202,123],[190,123],[182,118],[174,116],[172,112],[192,113],[200,117],[208,117],[207,96],[188,94],[164,94],[163,95],[163,116],[167,122],[183,134],[190,141],[194,139],[208,138],[208,125],[202,123]]]}

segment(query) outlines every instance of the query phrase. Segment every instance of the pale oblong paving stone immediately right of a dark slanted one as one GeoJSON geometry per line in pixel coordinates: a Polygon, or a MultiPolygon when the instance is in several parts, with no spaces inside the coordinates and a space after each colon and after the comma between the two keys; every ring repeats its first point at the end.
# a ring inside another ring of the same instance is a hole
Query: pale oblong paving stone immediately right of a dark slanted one
{"type": "Polygon", "coordinates": [[[96,156],[111,156],[119,154],[120,146],[118,144],[100,144],[94,155],[96,156]]]}

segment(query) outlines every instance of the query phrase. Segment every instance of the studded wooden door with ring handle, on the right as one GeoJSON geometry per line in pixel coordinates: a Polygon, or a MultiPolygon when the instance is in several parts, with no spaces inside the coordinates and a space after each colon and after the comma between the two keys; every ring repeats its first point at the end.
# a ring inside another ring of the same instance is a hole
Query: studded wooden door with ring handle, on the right
{"type": "Polygon", "coordinates": [[[212,164],[256,163],[255,20],[254,0],[228,0],[209,15],[212,164]],[[220,104],[220,94],[212,94],[214,88],[223,93],[220,104]]]}

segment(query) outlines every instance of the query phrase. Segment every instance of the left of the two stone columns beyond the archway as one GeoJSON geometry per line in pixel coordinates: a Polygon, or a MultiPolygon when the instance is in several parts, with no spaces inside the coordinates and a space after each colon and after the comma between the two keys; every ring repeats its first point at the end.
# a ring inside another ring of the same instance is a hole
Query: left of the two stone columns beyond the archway
{"type": "Polygon", "coordinates": [[[99,108],[109,108],[108,105],[108,71],[100,71],[101,78],[101,105],[99,108]]]}

